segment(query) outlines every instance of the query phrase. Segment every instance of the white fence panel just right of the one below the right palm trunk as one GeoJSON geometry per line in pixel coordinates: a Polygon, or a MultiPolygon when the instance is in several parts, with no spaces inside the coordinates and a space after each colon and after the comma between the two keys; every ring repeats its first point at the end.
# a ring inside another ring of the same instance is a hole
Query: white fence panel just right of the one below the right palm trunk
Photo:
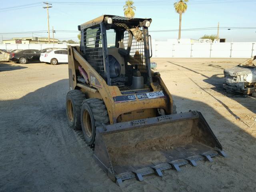
{"type": "Polygon", "coordinates": [[[210,57],[210,43],[194,43],[192,44],[192,55],[191,57],[206,58],[210,57]]]}

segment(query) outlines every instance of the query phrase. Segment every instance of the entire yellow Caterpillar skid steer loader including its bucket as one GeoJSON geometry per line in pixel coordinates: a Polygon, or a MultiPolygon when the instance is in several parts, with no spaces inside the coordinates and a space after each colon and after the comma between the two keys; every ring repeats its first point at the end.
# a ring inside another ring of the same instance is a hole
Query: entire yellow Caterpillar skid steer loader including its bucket
{"type": "Polygon", "coordinates": [[[202,114],[177,114],[151,71],[151,21],[103,15],[78,26],[80,47],[68,46],[68,124],[82,128],[96,162],[118,185],[226,156],[202,114]]]}

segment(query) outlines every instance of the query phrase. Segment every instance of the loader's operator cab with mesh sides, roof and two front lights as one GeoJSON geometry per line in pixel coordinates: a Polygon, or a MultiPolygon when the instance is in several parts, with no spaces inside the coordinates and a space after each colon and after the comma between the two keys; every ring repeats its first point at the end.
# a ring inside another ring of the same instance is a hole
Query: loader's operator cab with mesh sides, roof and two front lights
{"type": "Polygon", "coordinates": [[[120,90],[150,87],[151,21],[103,15],[78,26],[81,53],[108,85],[120,90]]]}

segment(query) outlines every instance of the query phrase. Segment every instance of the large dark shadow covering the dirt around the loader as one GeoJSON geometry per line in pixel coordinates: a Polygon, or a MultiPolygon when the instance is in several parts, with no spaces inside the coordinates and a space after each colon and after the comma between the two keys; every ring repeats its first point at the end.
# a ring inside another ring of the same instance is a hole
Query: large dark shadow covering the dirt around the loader
{"type": "Polygon", "coordinates": [[[186,102],[203,112],[229,157],[181,167],[182,172],[166,170],[162,178],[150,175],[144,182],[127,180],[119,188],[94,162],[93,151],[68,127],[68,87],[68,79],[63,79],[20,99],[0,102],[0,191],[256,190],[255,138],[207,104],[178,96],[178,107],[186,102]]]}

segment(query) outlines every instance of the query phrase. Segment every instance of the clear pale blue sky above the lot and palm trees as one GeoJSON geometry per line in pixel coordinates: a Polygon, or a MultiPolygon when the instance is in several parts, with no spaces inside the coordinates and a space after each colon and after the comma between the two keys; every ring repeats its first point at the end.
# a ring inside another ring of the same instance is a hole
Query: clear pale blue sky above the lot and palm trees
{"type": "MultiPolygon", "coordinates": [[[[52,0],[54,2],[89,2],[93,5],[56,4],[52,3],[49,9],[50,29],[77,30],[77,26],[102,14],[123,16],[125,0],[52,0]],[[95,5],[104,2],[104,5],[95,5]],[[106,5],[110,2],[111,5],[106,5]]],[[[0,0],[0,33],[25,32],[47,30],[46,9],[43,4],[35,4],[36,0],[0,0]],[[26,5],[23,8],[21,5],[26,5]],[[17,6],[17,7],[16,7],[17,6]],[[31,7],[33,6],[33,7],[31,7]],[[16,7],[12,10],[4,8],[16,7]]],[[[173,8],[174,0],[134,0],[136,6],[135,17],[152,18],[149,30],[175,30],[178,29],[179,15],[173,8]]],[[[190,0],[188,9],[182,15],[182,29],[217,27],[254,27],[255,29],[220,30],[220,38],[228,42],[256,42],[256,0],[190,0]],[[216,3],[210,3],[216,2],[216,3]],[[229,2],[229,3],[224,3],[229,2]]],[[[56,32],[55,38],[60,40],[76,38],[78,33],[56,32]]],[[[217,30],[182,31],[182,38],[198,39],[204,34],[217,34],[217,30]]],[[[47,37],[47,33],[34,33],[34,36],[47,37]]],[[[32,34],[3,34],[3,38],[32,36],[32,34]]],[[[52,36],[52,34],[51,34],[52,36]]],[[[152,32],[152,38],[166,40],[178,38],[178,32],[152,32]]],[[[2,34],[0,34],[2,38],[2,34]]]]}

